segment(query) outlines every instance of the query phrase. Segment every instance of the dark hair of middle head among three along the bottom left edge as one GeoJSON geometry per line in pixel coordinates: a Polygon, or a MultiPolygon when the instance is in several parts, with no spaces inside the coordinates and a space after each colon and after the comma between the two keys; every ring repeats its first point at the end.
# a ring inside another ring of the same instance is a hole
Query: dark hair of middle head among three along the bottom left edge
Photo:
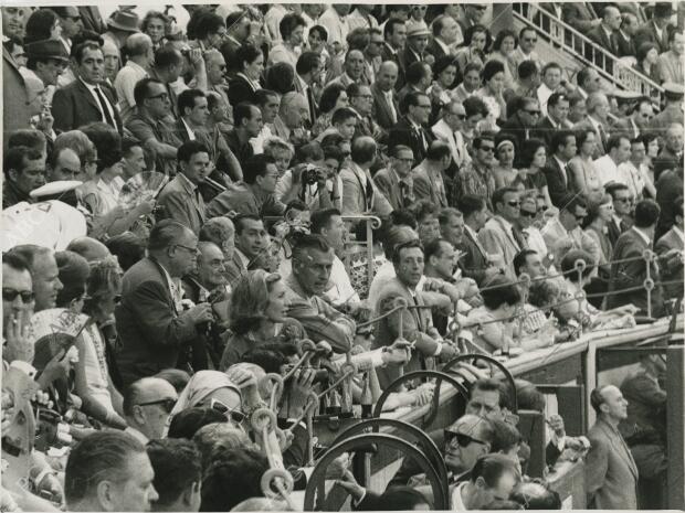
{"type": "Polygon", "coordinates": [[[155,471],[152,484],[159,494],[158,504],[171,504],[193,483],[200,484],[200,451],[193,441],[175,438],[150,440],[147,456],[155,471]]]}

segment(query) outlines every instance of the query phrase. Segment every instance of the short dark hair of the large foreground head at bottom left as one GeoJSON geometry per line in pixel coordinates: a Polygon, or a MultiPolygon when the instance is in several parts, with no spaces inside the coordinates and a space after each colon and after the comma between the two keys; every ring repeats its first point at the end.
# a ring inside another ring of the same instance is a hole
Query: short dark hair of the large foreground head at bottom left
{"type": "Polygon", "coordinates": [[[74,447],[64,470],[64,496],[71,506],[95,494],[104,480],[129,479],[133,455],[145,453],[145,447],[124,431],[96,431],[84,437],[74,447]]]}

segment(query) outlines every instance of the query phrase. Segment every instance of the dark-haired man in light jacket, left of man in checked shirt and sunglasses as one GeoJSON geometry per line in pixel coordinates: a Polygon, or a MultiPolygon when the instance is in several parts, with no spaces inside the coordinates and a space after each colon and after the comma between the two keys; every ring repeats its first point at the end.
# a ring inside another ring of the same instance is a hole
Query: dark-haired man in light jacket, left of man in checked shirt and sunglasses
{"type": "Polygon", "coordinates": [[[452,162],[450,147],[443,141],[433,141],[425,159],[411,171],[417,200],[429,200],[436,206],[447,206],[447,194],[443,172],[452,162]]]}

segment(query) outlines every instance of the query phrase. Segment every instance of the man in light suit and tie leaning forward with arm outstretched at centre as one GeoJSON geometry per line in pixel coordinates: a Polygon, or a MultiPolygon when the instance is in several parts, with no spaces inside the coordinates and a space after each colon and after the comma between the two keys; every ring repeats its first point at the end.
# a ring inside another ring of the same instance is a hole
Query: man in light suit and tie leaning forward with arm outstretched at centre
{"type": "MultiPolygon", "coordinates": [[[[396,277],[383,286],[378,302],[372,307],[375,312],[382,314],[392,310],[398,299],[403,299],[408,304],[431,304],[433,308],[443,310],[452,308],[447,296],[432,295],[429,298],[424,292],[417,290],[423,276],[423,248],[419,241],[410,241],[397,246],[392,264],[396,277]]],[[[409,342],[415,343],[415,352],[404,366],[407,372],[434,368],[434,357],[447,362],[456,354],[451,344],[442,342],[433,325],[430,309],[396,311],[382,319],[378,327],[378,336],[373,341],[373,349],[392,345],[400,332],[409,342]]],[[[399,370],[394,367],[379,370],[380,386],[386,388],[399,375],[399,370]]]]}

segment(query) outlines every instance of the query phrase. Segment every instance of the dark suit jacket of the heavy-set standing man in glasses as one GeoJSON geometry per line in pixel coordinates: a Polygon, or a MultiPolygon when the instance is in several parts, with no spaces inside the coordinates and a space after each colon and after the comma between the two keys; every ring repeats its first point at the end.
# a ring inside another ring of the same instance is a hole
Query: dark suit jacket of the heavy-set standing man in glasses
{"type": "Polygon", "coordinates": [[[179,317],[167,277],[151,258],[124,275],[122,302],[114,316],[120,344],[116,360],[124,385],[175,367],[198,335],[190,318],[179,317]]]}

